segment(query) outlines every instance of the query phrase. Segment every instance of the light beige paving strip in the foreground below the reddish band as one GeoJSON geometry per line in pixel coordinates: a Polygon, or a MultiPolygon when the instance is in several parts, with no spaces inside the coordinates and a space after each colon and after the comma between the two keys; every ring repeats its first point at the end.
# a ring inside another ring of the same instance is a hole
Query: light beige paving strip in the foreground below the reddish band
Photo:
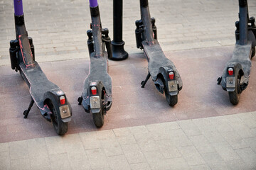
{"type": "Polygon", "coordinates": [[[256,169],[256,113],[0,144],[0,169],[256,169]]]}

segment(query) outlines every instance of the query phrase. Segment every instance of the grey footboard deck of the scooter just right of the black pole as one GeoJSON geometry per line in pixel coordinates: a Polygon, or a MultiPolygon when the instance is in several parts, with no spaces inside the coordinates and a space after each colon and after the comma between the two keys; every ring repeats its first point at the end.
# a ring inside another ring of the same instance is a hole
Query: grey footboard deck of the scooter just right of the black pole
{"type": "Polygon", "coordinates": [[[171,60],[166,58],[164,55],[163,50],[161,49],[161,46],[159,45],[159,42],[157,40],[154,40],[153,45],[148,45],[147,42],[144,40],[142,42],[144,53],[147,57],[147,60],[149,61],[149,73],[151,74],[151,77],[153,81],[156,81],[157,75],[160,72],[160,68],[164,69],[170,69],[174,70],[176,72],[176,77],[178,77],[179,86],[182,86],[182,81],[180,79],[180,75],[178,74],[178,71],[171,60]]]}

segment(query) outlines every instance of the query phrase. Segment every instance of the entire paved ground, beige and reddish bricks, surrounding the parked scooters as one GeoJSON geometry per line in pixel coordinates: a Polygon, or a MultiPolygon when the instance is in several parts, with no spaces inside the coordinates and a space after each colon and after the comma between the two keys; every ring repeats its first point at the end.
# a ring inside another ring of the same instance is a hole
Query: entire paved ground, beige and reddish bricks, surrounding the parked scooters
{"type": "MultiPolygon", "coordinates": [[[[248,3],[256,16],[256,1],[248,3]]],[[[183,79],[174,108],[152,81],[140,88],[147,62],[135,44],[139,1],[124,1],[129,58],[110,61],[113,106],[97,129],[77,103],[89,69],[88,2],[24,0],[36,60],[73,107],[64,137],[55,136],[35,106],[23,119],[28,87],[9,62],[13,4],[0,4],[0,169],[256,169],[255,59],[238,106],[216,85],[235,45],[238,1],[149,0],[161,47],[183,79]]],[[[112,37],[112,1],[99,4],[102,26],[112,37]]]]}

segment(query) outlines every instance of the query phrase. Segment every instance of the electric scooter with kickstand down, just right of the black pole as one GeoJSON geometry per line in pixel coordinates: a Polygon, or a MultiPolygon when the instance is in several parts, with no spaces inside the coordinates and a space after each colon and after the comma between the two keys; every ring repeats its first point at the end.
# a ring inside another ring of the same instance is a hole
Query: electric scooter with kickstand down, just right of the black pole
{"type": "Polygon", "coordinates": [[[149,62],[149,74],[142,81],[142,88],[151,77],[156,89],[165,94],[169,106],[174,106],[178,102],[178,92],[182,89],[181,76],[174,63],[165,57],[157,41],[156,20],[150,17],[148,0],[140,0],[140,11],[141,19],[135,22],[137,48],[144,50],[149,62]]]}

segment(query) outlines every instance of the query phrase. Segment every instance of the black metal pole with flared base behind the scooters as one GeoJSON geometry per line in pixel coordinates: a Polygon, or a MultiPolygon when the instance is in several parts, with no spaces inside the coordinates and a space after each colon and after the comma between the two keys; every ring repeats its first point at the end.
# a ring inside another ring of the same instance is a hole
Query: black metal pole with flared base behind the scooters
{"type": "Polygon", "coordinates": [[[110,60],[125,60],[128,53],[124,51],[124,41],[122,40],[122,8],[123,0],[113,0],[113,34],[112,57],[110,60]]]}

